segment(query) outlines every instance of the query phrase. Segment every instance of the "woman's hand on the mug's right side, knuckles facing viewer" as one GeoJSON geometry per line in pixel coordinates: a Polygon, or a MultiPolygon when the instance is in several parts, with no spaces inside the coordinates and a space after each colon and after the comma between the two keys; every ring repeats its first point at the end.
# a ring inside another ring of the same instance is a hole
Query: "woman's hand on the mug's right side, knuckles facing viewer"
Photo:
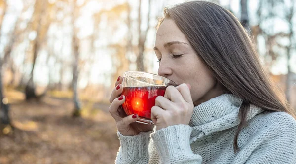
{"type": "Polygon", "coordinates": [[[156,130],[177,124],[188,125],[193,108],[190,84],[168,86],[165,95],[155,99],[155,106],[151,108],[151,119],[156,125],[156,130]]]}

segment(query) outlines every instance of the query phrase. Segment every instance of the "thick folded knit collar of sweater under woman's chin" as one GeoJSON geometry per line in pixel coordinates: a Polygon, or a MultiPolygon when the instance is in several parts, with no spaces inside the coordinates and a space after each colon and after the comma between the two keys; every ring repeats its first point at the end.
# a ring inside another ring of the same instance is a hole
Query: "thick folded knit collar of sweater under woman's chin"
{"type": "MultiPolygon", "coordinates": [[[[236,127],[242,99],[233,94],[223,94],[212,98],[194,107],[189,123],[192,127],[190,142],[217,131],[223,131],[236,127]]],[[[263,111],[254,105],[250,105],[247,120],[252,119],[263,111]]]]}

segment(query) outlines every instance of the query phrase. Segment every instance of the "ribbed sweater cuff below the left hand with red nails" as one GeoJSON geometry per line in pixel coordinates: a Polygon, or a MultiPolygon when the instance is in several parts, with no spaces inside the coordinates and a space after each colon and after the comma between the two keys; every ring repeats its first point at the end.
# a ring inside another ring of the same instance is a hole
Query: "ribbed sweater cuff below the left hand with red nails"
{"type": "Polygon", "coordinates": [[[148,144],[150,133],[141,132],[135,136],[124,136],[117,131],[120,140],[120,148],[115,164],[148,164],[148,144]]]}

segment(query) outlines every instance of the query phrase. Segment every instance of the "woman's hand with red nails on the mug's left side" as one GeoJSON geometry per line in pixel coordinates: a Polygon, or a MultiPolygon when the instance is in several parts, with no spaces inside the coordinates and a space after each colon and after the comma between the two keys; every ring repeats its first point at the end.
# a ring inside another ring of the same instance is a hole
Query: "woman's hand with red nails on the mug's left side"
{"type": "Polygon", "coordinates": [[[125,136],[133,136],[138,135],[140,132],[151,131],[154,125],[137,123],[137,114],[127,116],[123,109],[120,107],[120,105],[122,105],[125,101],[125,96],[120,96],[123,90],[123,87],[121,85],[122,79],[123,78],[121,76],[118,77],[118,80],[115,83],[115,88],[113,89],[111,97],[109,99],[111,103],[109,107],[109,112],[116,121],[118,131],[125,136]]]}

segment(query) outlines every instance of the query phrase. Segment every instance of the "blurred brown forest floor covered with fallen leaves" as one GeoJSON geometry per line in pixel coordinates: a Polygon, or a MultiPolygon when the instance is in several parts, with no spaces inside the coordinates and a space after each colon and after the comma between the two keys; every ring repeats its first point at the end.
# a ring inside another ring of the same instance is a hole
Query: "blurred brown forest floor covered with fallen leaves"
{"type": "Polygon", "coordinates": [[[25,101],[15,90],[6,96],[15,128],[0,135],[0,164],[114,163],[119,140],[109,104],[84,100],[82,117],[73,118],[70,98],[25,101]]]}

